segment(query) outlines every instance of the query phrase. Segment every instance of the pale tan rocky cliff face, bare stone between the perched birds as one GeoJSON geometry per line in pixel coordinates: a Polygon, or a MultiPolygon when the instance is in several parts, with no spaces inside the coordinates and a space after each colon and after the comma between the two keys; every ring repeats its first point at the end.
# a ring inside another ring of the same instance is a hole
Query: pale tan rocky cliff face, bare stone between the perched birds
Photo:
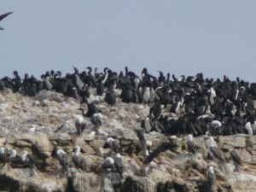
{"type": "MultiPolygon", "coordinates": [[[[91,94],[89,101],[94,100],[95,95],[91,94]]],[[[134,130],[148,116],[148,105],[118,102],[112,107],[102,97],[97,106],[102,109],[99,133],[91,134],[95,126],[84,118],[87,126],[80,137],[74,125],[74,120],[81,116],[77,100],[46,90],[35,97],[14,94],[8,89],[0,92],[0,147],[7,154],[14,148],[17,154],[28,151],[38,167],[0,164],[0,191],[211,191],[207,183],[208,166],[213,166],[216,174],[213,191],[255,191],[255,136],[216,138],[215,144],[227,160],[220,163],[207,160],[207,136],[194,138],[195,156],[188,152],[183,137],[144,134],[149,154],[161,143],[174,142],[178,147],[154,158],[148,173],[143,175],[141,145],[134,130]],[[71,122],[70,131],[56,131],[66,120],[71,122]],[[32,124],[36,125],[34,133],[28,131],[32,124]],[[111,155],[111,149],[106,147],[107,137],[113,137],[123,150],[123,178],[114,169],[102,169],[105,158],[111,155]],[[68,177],[63,177],[61,165],[51,152],[58,146],[71,156],[76,145],[85,151],[80,154],[84,171],[75,168],[71,161],[68,177]],[[235,149],[241,156],[240,172],[230,160],[229,149],[235,149]]]]}

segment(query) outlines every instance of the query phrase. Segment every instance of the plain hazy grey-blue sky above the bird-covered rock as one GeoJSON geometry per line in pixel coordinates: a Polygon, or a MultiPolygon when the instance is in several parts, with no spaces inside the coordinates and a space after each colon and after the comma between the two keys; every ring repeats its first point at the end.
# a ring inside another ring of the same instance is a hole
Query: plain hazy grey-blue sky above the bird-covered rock
{"type": "Polygon", "coordinates": [[[1,1],[0,77],[73,65],[256,82],[256,1],[1,1]]]}

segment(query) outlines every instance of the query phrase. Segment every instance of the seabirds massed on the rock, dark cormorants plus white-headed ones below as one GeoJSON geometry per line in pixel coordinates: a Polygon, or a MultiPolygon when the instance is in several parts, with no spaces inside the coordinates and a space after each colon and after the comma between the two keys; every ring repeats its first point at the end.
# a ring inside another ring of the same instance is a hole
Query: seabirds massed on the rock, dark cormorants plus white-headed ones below
{"type": "MultiPolygon", "coordinates": [[[[155,148],[152,154],[148,154],[147,143],[143,132],[157,131],[166,136],[189,135],[188,149],[191,154],[196,155],[195,145],[192,137],[207,135],[212,137],[229,136],[239,133],[255,135],[256,108],[256,83],[249,84],[239,78],[230,80],[205,79],[203,73],[195,76],[181,76],[178,79],[173,74],[159,72],[155,77],[143,68],[141,78],[136,73],[125,67],[125,72],[119,73],[105,67],[102,73],[97,68],[87,67],[87,71],[79,73],[79,69],[73,67],[73,73],[62,76],[60,71],[51,70],[41,75],[41,79],[25,74],[24,79],[20,78],[17,71],[14,78],[4,77],[0,79],[0,90],[9,88],[25,96],[36,96],[40,90],[55,90],[64,96],[72,96],[79,100],[82,114],[90,118],[96,127],[101,126],[101,109],[96,107],[96,102],[88,102],[90,88],[95,88],[96,96],[105,96],[108,105],[116,105],[117,102],[143,103],[149,105],[148,117],[141,122],[141,130],[137,130],[137,137],[143,148],[143,172],[147,173],[148,164],[161,152],[175,148],[175,143],[164,143],[160,148],[155,148]],[[117,94],[117,91],[120,94],[117,94]],[[118,99],[119,97],[119,99],[118,99]],[[87,111],[83,108],[87,105],[87,111]],[[162,111],[165,113],[162,113],[162,111]],[[178,114],[178,115],[174,115],[178,114]],[[173,118],[175,117],[175,118],[173,118]]],[[[65,122],[56,131],[66,131],[69,122],[65,122]]],[[[76,127],[79,136],[82,136],[86,124],[83,118],[76,119],[76,127]]],[[[115,168],[122,177],[121,153],[113,138],[108,138],[107,143],[113,150],[114,158],[108,157],[102,164],[103,168],[115,168]]],[[[210,158],[221,159],[222,154],[218,148],[212,145],[208,147],[210,158]]],[[[83,169],[79,159],[79,146],[73,156],[73,163],[83,169]]],[[[31,158],[23,153],[20,160],[30,165],[31,158]]],[[[55,148],[52,155],[60,161],[63,172],[67,175],[68,156],[61,148],[55,148]]],[[[241,165],[241,159],[236,151],[230,151],[237,165],[241,165]]],[[[4,148],[0,150],[0,161],[6,162],[4,148]],[[4,159],[4,158],[5,159],[4,159]]],[[[209,172],[213,172],[212,168],[209,172]]],[[[214,173],[214,172],[213,172],[214,173]]]]}

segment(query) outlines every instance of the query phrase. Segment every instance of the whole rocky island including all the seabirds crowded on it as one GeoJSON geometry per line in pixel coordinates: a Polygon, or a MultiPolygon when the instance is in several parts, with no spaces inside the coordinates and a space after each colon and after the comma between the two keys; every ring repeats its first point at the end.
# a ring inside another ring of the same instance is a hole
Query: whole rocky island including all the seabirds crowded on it
{"type": "Polygon", "coordinates": [[[73,67],[0,90],[0,190],[255,187],[255,83],[73,67]]]}

